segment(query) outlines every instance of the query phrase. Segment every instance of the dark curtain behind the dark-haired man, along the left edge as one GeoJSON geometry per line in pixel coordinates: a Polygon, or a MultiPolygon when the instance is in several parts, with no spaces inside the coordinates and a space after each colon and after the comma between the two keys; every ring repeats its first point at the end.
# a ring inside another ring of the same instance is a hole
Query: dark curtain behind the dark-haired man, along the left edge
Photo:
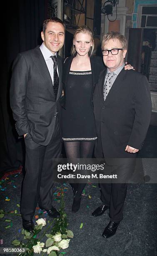
{"type": "Polygon", "coordinates": [[[10,109],[9,89],[12,62],[17,53],[42,43],[42,23],[47,18],[48,0],[6,1],[1,24],[0,83],[0,177],[24,164],[23,139],[19,139],[10,109]]]}

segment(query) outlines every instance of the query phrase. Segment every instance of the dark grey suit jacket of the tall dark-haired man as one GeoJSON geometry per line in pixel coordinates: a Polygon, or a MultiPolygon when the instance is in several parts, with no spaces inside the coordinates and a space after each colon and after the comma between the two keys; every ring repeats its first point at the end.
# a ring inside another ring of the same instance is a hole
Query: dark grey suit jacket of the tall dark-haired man
{"type": "Polygon", "coordinates": [[[60,84],[57,99],[40,46],[17,55],[12,67],[10,106],[17,133],[30,133],[32,140],[46,146],[55,127],[56,102],[62,94],[62,58],[57,55],[60,84]]]}

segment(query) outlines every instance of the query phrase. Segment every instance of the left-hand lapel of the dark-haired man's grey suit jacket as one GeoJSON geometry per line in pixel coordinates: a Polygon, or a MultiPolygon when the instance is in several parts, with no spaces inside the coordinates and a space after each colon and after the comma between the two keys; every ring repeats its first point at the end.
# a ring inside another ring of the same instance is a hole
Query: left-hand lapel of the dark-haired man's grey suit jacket
{"type": "Polygon", "coordinates": [[[42,55],[42,52],[40,51],[39,46],[37,46],[35,48],[35,54],[32,56],[32,58],[33,58],[35,65],[40,73],[40,76],[42,77],[42,79],[45,82],[45,86],[50,91],[52,96],[55,97],[53,87],[52,87],[52,79],[51,79],[45,59],[42,55]]]}

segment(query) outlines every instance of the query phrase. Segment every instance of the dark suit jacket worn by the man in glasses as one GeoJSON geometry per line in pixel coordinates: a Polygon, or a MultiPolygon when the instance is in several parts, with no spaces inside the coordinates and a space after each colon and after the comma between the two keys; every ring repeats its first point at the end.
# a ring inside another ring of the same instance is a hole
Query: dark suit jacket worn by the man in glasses
{"type": "Polygon", "coordinates": [[[100,74],[93,97],[98,136],[95,156],[130,158],[125,147],[141,149],[150,124],[149,84],[144,75],[122,69],[104,101],[105,75],[106,70],[100,74]]]}

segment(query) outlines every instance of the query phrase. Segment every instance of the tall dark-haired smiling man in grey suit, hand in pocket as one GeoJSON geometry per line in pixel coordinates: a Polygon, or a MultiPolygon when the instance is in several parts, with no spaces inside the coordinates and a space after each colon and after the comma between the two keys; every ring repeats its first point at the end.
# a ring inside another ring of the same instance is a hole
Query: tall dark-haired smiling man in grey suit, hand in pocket
{"type": "Polygon", "coordinates": [[[62,58],[57,55],[65,39],[62,20],[45,20],[43,43],[17,55],[12,67],[10,105],[16,130],[24,136],[26,158],[22,186],[23,228],[32,232],[37,202],[52,218],[60,213],[52,206],[53,158],[59,158],[60,105],[62,95],[62,58]]]}

